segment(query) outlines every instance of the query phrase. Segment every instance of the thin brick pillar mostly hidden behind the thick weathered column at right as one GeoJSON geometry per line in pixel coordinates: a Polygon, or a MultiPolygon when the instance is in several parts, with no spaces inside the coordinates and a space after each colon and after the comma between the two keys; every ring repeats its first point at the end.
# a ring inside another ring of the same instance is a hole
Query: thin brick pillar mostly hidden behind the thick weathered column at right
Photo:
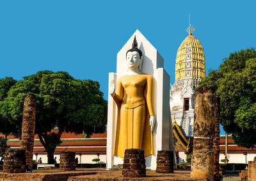
{"type": "Polygon", "coordinates": [[[220,180],[220,98],[216,97],[215,100],[215,134],[213,139],[213,150],[214,150],[214,180],[220,180]]]}

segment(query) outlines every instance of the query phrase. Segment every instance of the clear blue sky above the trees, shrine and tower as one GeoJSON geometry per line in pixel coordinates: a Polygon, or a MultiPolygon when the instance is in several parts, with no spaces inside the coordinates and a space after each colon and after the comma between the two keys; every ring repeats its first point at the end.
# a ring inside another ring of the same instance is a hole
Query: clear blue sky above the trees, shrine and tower
{"type": "Polygon", "coordinates": [[[189,13],[208,72],[230,52],[255,47],[255,7],[256,1],[0,1],[0,78],[61,70],[99,81],[107,98],[116,53],[139,29],[174,83],[189,13]]]}

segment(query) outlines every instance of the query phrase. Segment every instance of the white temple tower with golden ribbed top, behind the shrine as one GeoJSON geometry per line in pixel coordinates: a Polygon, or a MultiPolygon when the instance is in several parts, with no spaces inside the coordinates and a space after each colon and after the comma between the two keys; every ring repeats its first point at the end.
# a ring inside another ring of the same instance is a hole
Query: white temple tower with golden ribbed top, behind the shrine
{"type": "Polygon", "coordinates": [[[175,83],[170,90],[172,122],[182,127],[188,137],[193,136],[195,90],[205,77],[204,49],[192,35],[195,29],[188,28],[189,35],[180,44],[175,63],[175,83]]]}

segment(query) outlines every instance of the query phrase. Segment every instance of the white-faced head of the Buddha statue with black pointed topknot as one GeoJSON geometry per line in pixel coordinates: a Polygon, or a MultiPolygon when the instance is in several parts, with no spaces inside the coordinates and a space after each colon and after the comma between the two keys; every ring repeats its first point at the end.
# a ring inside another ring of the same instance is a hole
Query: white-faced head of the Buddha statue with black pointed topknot
{"type": "Polygon", "coordinates": [[[127,61],[128,68],[131,70],[136,70],[137,68],[139,68],[141,70],[142,60],[143,60],[142,52],[140,49],[138,49],[136,36],[134,36],[132,48],[126,52],[126,61],[127,61]]]}

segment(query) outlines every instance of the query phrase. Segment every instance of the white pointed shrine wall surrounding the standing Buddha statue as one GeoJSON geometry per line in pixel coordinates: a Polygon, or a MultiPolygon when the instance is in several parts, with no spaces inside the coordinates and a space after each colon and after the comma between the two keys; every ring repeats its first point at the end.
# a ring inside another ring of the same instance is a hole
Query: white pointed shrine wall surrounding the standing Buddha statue
{"type": "Polygon", "coordinates": [[[141,72],[150,74],[154,77],[154,95],[153,108],[156,116],[156,123],[154,125],[154,155],[145,158],[146,166],[150,169],[156,169],[156,158],[158,150],[172,150],[173,151],[173,133],[172,124],[170,122],[170,76],[164,70],[164,60],[148,42],[148,40],[138,31],[129,38],[124,47],[117,54],[116,73],[109,73],[109,95],[108,95],[108,136],[107,136],[107,158],[106,168],[113,168],[113,165],[123,164],[121,157],[113,156],[115,136],[116,136],[116,103],[111,97],[111,83],[118,78],[125,75],[127,72],[127,63],[125,62],[126,53],[131,49],[132,41],[136,36],[138,48],[143,54],[143,63],[141,72]]]}

